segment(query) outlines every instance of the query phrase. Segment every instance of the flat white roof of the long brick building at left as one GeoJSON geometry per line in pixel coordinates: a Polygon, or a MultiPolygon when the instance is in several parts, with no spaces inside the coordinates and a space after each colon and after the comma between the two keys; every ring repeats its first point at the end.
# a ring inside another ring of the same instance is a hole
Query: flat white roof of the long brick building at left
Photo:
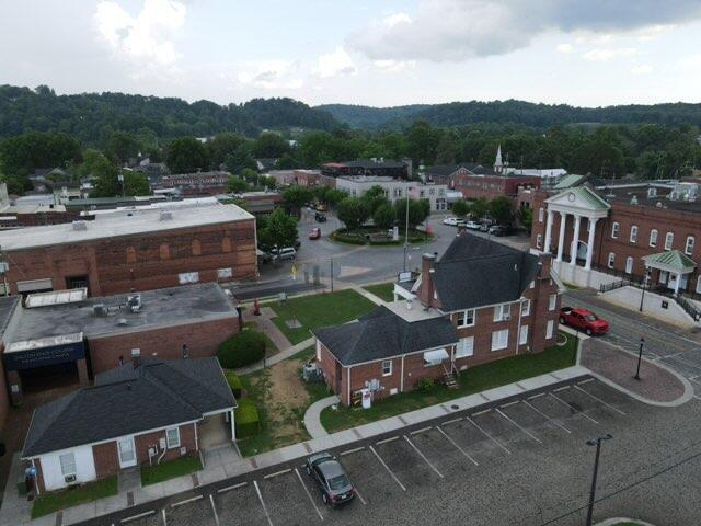
{"type": "Polygon", "coordinates": [[[1,244],[3,250],[11,251],[253,219],[235,205],[183,207],[168,213],[170,218],[161,220],[160,209],[115,210],[99,215],[92,221],[82,221],[84,229],[65,224],[7,230],[2,232],[1,244]]]}

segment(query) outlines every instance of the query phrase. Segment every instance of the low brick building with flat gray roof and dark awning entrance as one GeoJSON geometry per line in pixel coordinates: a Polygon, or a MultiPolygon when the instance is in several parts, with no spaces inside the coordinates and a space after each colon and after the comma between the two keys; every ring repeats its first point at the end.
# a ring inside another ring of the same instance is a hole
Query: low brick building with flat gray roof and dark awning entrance
{"type": "MultiPolygon", "coordinates": [[[[2,334],[2,382],[25,390],[80,382],[148,358],[209,357],[239,331],[239,313],[216,283],[87,298],[84,289],[14,302],[2,334]]],[[[9,310],[10,306],[8,306],[9,310]]]]}

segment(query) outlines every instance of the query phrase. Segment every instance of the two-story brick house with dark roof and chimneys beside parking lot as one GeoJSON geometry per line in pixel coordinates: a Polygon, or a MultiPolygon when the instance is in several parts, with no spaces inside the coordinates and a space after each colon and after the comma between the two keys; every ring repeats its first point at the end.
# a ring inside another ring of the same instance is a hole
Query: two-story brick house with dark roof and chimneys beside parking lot
{"type": "Polygon", "coordinates": [[[455,381],[474,365],[541,352],[555,343],[560,289],[550,258],[462,232],[439,261],[424,254],[404,299],[355,323],[319,329],[317,359],[329,387],[349,404],[411,390],[425,377],[455,381]]]}

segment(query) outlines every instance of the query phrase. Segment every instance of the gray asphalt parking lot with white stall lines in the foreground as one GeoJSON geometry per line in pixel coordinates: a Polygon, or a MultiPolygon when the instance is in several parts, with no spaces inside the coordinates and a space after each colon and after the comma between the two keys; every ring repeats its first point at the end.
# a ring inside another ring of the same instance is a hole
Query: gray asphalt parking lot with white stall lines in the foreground
{"type": "Polygon", "coordinates": [[[323,505],[302,459],[83,525],[579,525],[605,433],[595,519],[699,524],[701,404],[645,405],[589,377],[333,450],[358,490],[323,505]],[[148,516],[140,516],[148,513],[148,516]]]}

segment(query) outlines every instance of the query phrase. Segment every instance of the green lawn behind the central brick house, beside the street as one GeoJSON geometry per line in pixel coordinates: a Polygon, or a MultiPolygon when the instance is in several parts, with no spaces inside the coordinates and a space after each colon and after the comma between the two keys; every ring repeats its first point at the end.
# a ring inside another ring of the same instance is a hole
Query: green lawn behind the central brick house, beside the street
{"type": "Polygon", "coordinates": [[[372,310],[376,305],[355,290],[348,289],[301,296],[285,302],[275,301],[269,304],[269,307],[277,315],[273,318],[273,322],[294,345],[310,338],[310,329],[338,325],[355,320],[372,310]],[[298,329],[287,327],[285,321],[291,319],[299,320],[302,327],[298,329]]]}

